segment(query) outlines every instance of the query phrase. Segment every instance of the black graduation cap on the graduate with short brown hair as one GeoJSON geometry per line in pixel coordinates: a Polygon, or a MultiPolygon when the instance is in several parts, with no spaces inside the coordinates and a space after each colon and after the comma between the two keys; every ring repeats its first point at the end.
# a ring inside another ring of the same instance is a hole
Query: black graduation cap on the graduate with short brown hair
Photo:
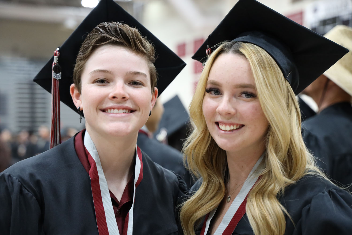
{"type": "MultiPolygon", "coordinates": [[[[61,101],[77,112],[69,87],[73,83],[73,68],[76,63],[78,51],[84,39],[95,26],[102,22],[122,22],[139,30],[143,37],[146,37],[155,48],[157,59],[154,63],[158,81],[159,94],[170,84],[178,73],[186,66],[180,57],[164,45],[157,37],[141,25],[136,19],[128,14],[113,0],[100,0],[99,4],[88,14],[71,36],[62,44],[59,49],[60,56],[58,63],[62,68],[61,79],[59,79],[59,91],[61,101]]],[[[53,45],[53,51],[56,45],[53,45]]],[[[51,92],[51,76],[53,57],[45,64],[40,72],[33,79],[34,82],[51,92]]]]}

